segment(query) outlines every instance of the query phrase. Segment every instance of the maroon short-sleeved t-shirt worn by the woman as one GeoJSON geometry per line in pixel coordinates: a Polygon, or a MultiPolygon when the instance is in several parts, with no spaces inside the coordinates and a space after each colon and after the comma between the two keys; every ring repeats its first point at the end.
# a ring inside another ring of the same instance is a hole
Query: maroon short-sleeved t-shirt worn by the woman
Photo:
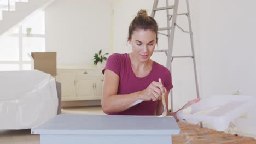
{"type": "MultiPolygon", "coordinates": [[[[108,57],[106,66],[102,70],[111,70],[120,78],[117,94],[130,94],[146,89],[153,81],[158,82],[161,78],[162,84],[169,91],[172,86],[170,71],[153,61],[152,70],[146,77],[136,77],[131,67],[129,54],[114,53],[108,57]]],[[[143,101],[130,109],[118,113],[109,113],[111,115],[155,115],[158,101],[143,101]]]]}

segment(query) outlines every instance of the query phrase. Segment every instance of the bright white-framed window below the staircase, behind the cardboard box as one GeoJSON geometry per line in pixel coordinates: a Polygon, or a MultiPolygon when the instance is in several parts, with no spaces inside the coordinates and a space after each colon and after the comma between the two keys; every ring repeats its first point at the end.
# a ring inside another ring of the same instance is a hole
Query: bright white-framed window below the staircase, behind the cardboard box
{"type": "Polygon", "coordinates": [[[31,52],[45,52],[44,11],[0,37],[0,71],[31,70],[31,52]]]}

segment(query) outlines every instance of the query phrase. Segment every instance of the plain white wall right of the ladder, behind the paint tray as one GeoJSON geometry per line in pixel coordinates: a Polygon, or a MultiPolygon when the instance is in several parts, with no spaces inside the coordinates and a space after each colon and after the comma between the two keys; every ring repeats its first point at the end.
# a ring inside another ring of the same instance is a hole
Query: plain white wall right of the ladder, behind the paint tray
{"type": "MultiPolygon", "coordinates": [[[[201,0],[200,41],[202,95],[256,97],[256,1],[201,0]]],[[[256,112],[236,121],[239,131],[256,137],[256,112]]]]}

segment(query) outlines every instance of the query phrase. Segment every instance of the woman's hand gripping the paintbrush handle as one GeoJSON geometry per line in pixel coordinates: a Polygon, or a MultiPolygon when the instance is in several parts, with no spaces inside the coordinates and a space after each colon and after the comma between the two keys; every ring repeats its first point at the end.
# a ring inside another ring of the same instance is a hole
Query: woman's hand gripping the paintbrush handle
{"type": "Polygon", "coordinates": [[[143,101],[156,101],[161,99],[161,95],[165,95],[166,88],[162,83],[153,81],[150,85],[139,93],[139,99],[143,101]]]}

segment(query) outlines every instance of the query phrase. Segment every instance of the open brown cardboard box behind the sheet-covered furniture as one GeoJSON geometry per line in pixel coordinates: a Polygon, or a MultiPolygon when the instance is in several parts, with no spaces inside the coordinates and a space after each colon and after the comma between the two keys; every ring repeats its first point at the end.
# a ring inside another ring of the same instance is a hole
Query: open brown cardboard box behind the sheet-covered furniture
{"type": "Polygon", "coordinates": [[[34,59],[34,69],[44,71],[52,76],[57,75],[56,52],[31,52],[34,59]]]}

